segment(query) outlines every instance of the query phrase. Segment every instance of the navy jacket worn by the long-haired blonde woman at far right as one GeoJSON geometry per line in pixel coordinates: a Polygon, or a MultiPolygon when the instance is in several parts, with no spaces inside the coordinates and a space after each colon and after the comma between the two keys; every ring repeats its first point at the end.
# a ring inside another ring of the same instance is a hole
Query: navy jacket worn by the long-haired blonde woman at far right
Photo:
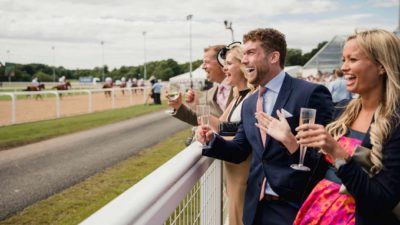
{"type": "MultiPolygon", "coordinates": [[[[400,114],[400,108],[397,108],[397,113],[400,114]]],[[[382,146],[383,169],[377,175],[369,177],[353,158],[337,171],[356,201],[357,225],[400,224],[392,213],[400,202],[400,121],[393,119],[391,122],[394,127],[382,146]]],[[[361,145],[372,148],[369,130],[361,145]]]]}

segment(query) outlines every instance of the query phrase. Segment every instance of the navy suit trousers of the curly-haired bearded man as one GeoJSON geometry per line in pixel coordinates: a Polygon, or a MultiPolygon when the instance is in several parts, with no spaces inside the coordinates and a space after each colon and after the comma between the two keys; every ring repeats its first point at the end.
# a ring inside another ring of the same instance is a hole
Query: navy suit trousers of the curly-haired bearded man
{"type": "Polygon", "coordinates": [[[258,203],[253,225],[292,225],[298,208],[286,201],[261,201],[258,203]]]}

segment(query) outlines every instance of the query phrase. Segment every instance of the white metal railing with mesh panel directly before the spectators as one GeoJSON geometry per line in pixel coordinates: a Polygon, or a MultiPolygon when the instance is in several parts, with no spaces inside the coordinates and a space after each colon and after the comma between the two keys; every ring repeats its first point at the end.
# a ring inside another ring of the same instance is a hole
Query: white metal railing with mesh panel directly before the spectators
{"type": "Polygon", "coordinates": [[[81,225],[221,225],[222,163],[192,143],[81,225]]]}

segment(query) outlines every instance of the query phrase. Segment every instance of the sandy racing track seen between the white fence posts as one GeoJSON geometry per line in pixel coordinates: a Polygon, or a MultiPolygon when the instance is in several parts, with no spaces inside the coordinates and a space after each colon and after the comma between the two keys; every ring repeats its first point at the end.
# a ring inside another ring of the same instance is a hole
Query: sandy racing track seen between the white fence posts
{"type": "MultiPolygon", "coordinates": [[[[59,104],[60,117],[85,114],[91,111],[102,111],[114,108],[128,107],[131,105],[144,104],[145,96],[142,93],[115,91],[114,104],[112,98],[105,97],[103,92],[93,93],[90,100],[89,95],[63,94],[59,104]]],[[[35,96],[18,98],[15,109],[16,123],[32,122],[57,118],[57,103],[54,96],[36,99],[35,96]]],[[[12,124],[12,101],[0,101],[0,126],[12,124]]]]}

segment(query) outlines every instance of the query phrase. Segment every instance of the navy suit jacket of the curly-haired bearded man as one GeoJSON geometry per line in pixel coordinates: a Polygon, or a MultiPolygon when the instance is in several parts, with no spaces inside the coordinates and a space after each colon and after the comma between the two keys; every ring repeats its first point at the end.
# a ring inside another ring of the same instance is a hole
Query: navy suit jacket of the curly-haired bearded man
{"type": "MultiPolygon", "coordinates": [[[[264,148],[260,131],[254,125],[257,98],[258,92],[243,102],[242,120],[232,141],[225,141],[216,135],[211,148],[203,149],[203,155],[234,163],[244,161],[253,152],[243,209],[243,222],[246,225],[253,223],[264,176],[280,197],[300,206],[328,168],[328,164],[317,151],[309,150],[306,153],[304,164],[311,168],[307,172],[290,167],[299,162],[299,151],[290,154],[280,142],[269,136],[264,148]]],[[[326,87],[286,74],[272,116],[277,117],[276,110],[282,108],[291,113],[293,117],[287,118],[287,121],[292,132],[296,134],[301,107],[316,109],[315,122],[318,124],[326,125],[332,119],[332,97],[326,87]]]]}

